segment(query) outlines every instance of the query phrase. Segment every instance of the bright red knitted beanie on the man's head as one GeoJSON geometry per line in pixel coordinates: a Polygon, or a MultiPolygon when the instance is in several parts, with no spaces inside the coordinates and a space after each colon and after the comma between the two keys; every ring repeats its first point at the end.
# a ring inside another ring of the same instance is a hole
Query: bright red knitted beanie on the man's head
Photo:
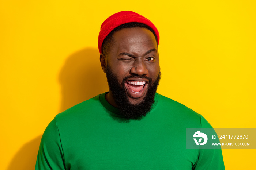
{"type": "Polygon", "coordinates": [[[151,27],[155,31],[155,35],[157,35],[157,41],[159,45],[159,32],[157,30],[157,27],[155,27],[150,20],[132,11],[121,11],[111,15],[101,24],[101,31],[99,32],[98,37],[99,53],[102,53],[102,43],[103,40],[108,36],[108,34],[112,30],[114,30],[114,28],[129,22],[143,23],[151,27]]]}

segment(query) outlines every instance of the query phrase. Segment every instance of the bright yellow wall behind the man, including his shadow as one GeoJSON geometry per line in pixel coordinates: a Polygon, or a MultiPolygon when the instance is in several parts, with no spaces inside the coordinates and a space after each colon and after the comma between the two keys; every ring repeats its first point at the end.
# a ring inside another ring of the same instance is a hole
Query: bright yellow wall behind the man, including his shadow
{"type": "MultiPolygon", "coordinates": [[[[98,33],[123,10],[160,32],[160,94],[215,128],[256,128],[255,9],[253,0],[0,0],[1,169],[34,169],[54,116],[108,90],[98,33]]],[[[225,149],[225,167],[253,169],[255,154],[225,149]]]]}

